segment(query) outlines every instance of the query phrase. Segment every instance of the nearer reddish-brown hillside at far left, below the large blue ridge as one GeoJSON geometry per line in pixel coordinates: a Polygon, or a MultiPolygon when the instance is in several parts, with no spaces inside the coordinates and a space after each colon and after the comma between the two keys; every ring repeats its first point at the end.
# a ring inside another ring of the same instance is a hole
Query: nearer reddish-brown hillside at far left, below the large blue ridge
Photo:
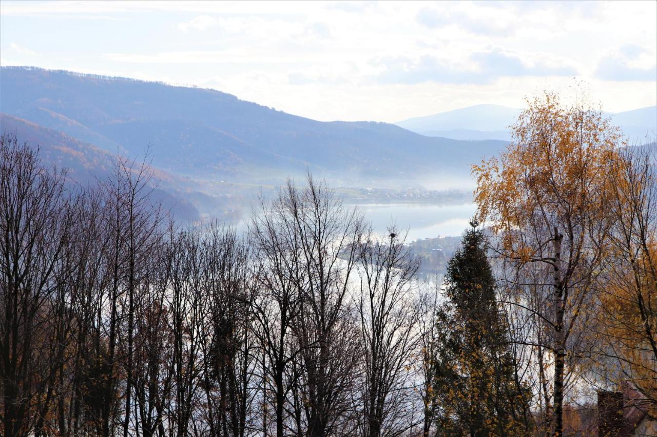
{"type": "MultiPolygon", "coordinates": [[[[116,163],[116,154],[12,115],[0,113],[0,133],[16,135],[20,142],[38,147],[45,166],[66,168],[67,177],[82,186],[107,177],[116,163]]],[[[151,168],[151,173],[156,186],[150,199],[181,220],[198,220],[198,210],[181,194],[183,182],[156,168],[151,168]]]]}

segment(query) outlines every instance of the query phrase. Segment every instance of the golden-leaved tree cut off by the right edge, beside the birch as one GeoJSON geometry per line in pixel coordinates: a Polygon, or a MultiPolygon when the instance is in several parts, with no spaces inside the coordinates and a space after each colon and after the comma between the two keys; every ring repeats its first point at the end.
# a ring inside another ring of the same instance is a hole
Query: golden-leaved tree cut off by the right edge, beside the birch
{"type": "Polygon", "coordinates": [[[605,383],[631,381],[652,402],[657,402],[656,152],[654,143],[630,147],[610,163],[608,213],[614,224],[594,356],[605,383]]]}

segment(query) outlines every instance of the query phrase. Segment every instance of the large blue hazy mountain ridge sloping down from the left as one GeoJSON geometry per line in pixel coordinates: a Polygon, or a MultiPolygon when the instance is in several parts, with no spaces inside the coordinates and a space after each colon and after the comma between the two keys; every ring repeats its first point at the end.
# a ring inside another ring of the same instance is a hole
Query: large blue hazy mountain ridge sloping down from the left
{"type": "Polygon", "coordinates": [[[210,89],[37,68],[0,70],[0,111],[131,156],[150,144],[176,175],[265,183],[309,169],[369,183],[468,178],[505,142],[418,135],[374,122],[321,122],[210,89]]]}

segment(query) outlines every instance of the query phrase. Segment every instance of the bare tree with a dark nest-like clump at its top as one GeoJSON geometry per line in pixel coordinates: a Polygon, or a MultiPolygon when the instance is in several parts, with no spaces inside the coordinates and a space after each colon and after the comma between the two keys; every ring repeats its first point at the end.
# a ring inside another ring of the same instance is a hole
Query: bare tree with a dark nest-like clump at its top
{"type": "Polygon", "coordinates": [[[413,257],[396,228],[377,239],[372,229],[358,245],[364,436],[398,436],[411,429],[411,358],[420,342],[420,304],[413,257]]]}

